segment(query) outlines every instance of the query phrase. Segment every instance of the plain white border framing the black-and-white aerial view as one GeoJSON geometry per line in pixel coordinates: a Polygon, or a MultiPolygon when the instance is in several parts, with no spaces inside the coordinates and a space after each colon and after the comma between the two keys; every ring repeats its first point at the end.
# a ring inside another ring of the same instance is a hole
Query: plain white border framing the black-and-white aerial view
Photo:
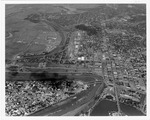
{"type": "Polygon", "coordinates": [[[150,4],[149,4],[149,0],[1,0],[1,43],[0,43],[0,74],[1,74],[1,80],[0,80],[0,98],[1,98],[1,104],[0,104],[0,115],[2,120],[4,119],[10,119],[10,120],[14,120],[14,119],[37,119],[37,120],[41,120],[41,119],[65,119],[65,120],[75,120],[75,119],[86,119],[86,120],[91,120],[91,119],[95,119],[95,120],[110,120],[110,119],[114,119],[114,120],[127,120],[127,119],[135,119],[135,120],[150,120],[150,102],[149,102],[149,98],[150,98],[150,81],[149,81],[149,61],[150,61],[150,56],[149,56],[149,51],[150,51],[150,43],[149,43],[149,34],[150,30],[149,30],[149,11],[150,11],[150,4]],[[147,6],[147,116],[119,116],[119,117],[115,117],[115,116],[78,116],[76,117],[7,117],[5,116],[5,4],[73,4],[73,3],[80,3],[80,4],[105,4],[105,3],[114,3],[114,4],[146,4],[147,6]],[[149,113],[149,114],[148,114],[149,113]]]}

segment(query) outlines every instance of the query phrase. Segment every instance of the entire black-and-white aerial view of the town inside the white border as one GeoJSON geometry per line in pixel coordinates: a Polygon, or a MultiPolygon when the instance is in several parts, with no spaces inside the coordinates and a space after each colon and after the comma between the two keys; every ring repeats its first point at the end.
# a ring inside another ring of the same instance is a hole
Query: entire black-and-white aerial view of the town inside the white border
{"type": "Polygon", "coordinates": [[[147,116],[146,4],[5,4],[5,116],[147,116]]]}

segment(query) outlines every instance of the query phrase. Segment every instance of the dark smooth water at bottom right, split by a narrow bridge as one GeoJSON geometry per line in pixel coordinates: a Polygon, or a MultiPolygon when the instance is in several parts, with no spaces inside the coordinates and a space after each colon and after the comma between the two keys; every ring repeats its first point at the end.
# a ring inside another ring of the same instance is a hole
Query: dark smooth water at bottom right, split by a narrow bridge
{"type": "MultiPolygon", "coordinates": [[[[144,114],[137,110],[134,107],[131,107],[129,105],[125,105],[123,103],[120,103],[120,107],[123,113],[125,113],[128,116],[143,116],[144,114]]],[[[116,102],[108,101],[108,100],[102,100],[99,102],[93,109],[91,116],[108,116],[108,112],[110,111],[117,111],[117,105],[116,102]]]]}

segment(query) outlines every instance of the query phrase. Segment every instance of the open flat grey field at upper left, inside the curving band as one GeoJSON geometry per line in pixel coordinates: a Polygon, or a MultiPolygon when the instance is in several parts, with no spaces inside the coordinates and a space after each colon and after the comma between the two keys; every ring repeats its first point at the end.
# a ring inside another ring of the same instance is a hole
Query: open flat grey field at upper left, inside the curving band
{"type": "MultiPolygon", "coordinates": [[[[42,53],[48,44],[49,34],[54,36],[54,29],[44,22],[32,23],[24,20],[27,15],[38,12],[59,12],[51,5],[6,5],[6,59],[11,60],[20,53],[42,53]]],[[[61,37],[59,34],[59,41],[61,37]]],[[[59,42],[58,42],[59,43],[59,42]]]]}

